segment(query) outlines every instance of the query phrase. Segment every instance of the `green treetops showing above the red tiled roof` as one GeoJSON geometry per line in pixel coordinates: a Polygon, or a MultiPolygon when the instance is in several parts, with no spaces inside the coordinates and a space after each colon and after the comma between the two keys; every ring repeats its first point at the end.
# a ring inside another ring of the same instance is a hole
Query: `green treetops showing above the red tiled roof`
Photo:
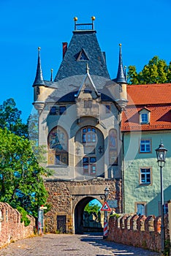
{"type": "Polygon", "coordinates": [[[167,66],[166,61],[154,56],[139,73],[135,66],[129,66],[127,78],[129,84],[171,83],[171,62],[167,66]]]}

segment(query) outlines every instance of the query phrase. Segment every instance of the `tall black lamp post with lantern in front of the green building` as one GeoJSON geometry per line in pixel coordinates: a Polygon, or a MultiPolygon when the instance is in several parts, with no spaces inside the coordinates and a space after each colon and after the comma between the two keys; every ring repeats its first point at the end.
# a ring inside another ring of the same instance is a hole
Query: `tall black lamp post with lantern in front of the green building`
{"type": "Polygon", "coordinates": [[[164,167],[165,158],[166,158],[167,149],[164,148],[164,145],[161,140],[159,148],[156,148],[156,157],[157,162],[160,167],[160,192],[161,192],[161,255],[164,253],[164,191],[163,191],[163,175],[162,167],[164,167]]]}

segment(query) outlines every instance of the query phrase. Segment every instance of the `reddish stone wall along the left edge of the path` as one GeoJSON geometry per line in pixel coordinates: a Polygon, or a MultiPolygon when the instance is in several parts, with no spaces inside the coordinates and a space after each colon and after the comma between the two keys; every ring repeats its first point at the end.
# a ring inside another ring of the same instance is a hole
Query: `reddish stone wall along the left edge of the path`
{"type": "Polygon", "coordinates": [[[28,216],[30,225],[20,223],[20,213],[9,206],[8,203],[0,203],[0,248],[11,241],[34,235],[35,219],[28,216]]]}

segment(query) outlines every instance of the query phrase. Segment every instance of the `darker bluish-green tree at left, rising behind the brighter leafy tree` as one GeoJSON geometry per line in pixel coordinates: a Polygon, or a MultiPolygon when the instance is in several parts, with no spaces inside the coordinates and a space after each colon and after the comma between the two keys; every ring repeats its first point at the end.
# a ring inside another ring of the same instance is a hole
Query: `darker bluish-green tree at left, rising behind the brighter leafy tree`
{"type": "Polygon", "coordinates": [[[28,138],[28,124],[23,124],[20,116],[21,111],[16,108],[15,100],[7,99],[0,105],[0,128],[28,138]]]}

